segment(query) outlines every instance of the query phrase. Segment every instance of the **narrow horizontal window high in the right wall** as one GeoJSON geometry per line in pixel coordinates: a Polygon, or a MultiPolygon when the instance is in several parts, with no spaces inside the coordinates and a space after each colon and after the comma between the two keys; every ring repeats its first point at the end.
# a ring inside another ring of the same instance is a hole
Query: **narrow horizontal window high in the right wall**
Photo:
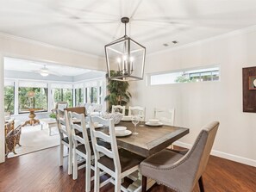
{"type": "Polygon", "coordinates": [[[148,77],[150,85],[218,81],[220,79],[220,68],[197,68],[192,70],[150,74],[148,77]]]}

